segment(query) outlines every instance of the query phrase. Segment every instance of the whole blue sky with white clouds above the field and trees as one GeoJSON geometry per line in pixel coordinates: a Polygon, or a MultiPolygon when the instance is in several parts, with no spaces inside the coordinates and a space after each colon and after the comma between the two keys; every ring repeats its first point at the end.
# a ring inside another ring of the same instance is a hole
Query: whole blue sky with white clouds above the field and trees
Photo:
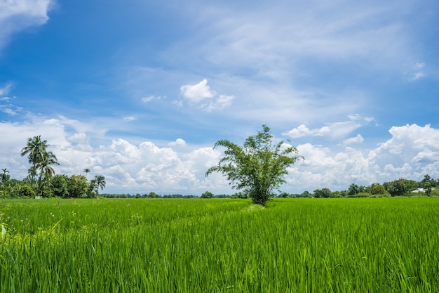
{"type": "Polygon", "coordinates": [[[0,168],[104,193],[232,194],[205,177],[266,124],[304,159],[281,191],[439,178],[435,0],[0,0],[0,168]]]}

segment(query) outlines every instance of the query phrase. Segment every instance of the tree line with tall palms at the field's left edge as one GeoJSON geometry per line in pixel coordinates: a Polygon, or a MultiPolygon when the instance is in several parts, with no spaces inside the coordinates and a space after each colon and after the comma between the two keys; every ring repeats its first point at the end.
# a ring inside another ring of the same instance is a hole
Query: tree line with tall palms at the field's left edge
{"type": "Polygon", "coordinates": [[[27,177],[22,180],[11,179],[8,169],[2,169],[0,174],[0,197],[97,197],[99,189],[103,190],[105,177],[97,175],[90,181],[87,174],[90,169],[84,169],[85,176],[74,174],[67,176],[55,175],[53,166],[59,165],[55,154],[48,150],[48,143],[41,136],[27,139],[21,156],[27,156],[30,164],[27,177]]]}

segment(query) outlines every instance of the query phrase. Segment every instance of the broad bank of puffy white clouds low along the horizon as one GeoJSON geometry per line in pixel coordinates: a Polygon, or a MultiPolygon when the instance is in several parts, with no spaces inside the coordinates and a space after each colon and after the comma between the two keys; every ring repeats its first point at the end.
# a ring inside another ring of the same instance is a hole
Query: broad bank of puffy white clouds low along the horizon
{"type": "MultiPolygon", "coordinates": [[[[100,123],[102,124],[102,123],[100,123]]],[[[34,120],[29,123],[1,122],[0,136],[8,138],[0,150],[0,166],[11,171],[13,178],[24,178],[29,168],[27,159],[20,157],[20,150],[27,138],[41,134],[55,152],[60,166],[58,174],[82,174],[84,168],[90,175],[104,175],[105,192],[109,193],[183,193],[201,194],[234,193],[221,174],[205,177],[205,171],[217,164],[222,152],[203,145],[190,147],[182,138],[169,143],[184,146],[179,152],[162,148],[152,141],[133,144],[124,139],[114,139],[97,146],[90,145],[95,127],[83,126],[76,120],[58,117],[34,120]],[[74,128],[76,127],[76,128],[74,128]]],[[[364,139],[357,135],[340,145],[297,145],[299,160],[290,167],[287,192],[302,193],[317,188],[343,190],[351,183],[370,185],[398,178],[421,180],[424,174],[439,178],[439,129],[417,124],[393,126],[390,138],[376,147],[354,147],[364,139]]]]}

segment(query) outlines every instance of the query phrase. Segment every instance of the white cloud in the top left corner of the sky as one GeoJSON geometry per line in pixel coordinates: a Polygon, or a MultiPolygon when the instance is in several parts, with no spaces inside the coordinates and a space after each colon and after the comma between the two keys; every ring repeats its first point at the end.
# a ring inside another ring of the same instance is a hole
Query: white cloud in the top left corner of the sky
{"type": "Polygon", "coordinates": [[[45,24],[52,6],[52,0],[0,1],[0,48],[6,45],[11,34],[45,24]]]}

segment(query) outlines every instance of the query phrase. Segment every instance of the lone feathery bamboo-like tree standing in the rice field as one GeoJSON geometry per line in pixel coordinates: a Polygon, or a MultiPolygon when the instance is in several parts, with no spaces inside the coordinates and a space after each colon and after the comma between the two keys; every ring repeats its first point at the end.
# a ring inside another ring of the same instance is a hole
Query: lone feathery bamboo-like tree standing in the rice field
{"type": "Polygon", "coordinates": [[[253,203],[265,205],[273,189],[285,183],[287,167],[301,156],[284,141],[273,145],[269,127],[262,125],[262,129],[256,136],[249,136],[242,148],[227,140],[217,141],[214,148],[227,148],[225,156],[205,176],[220,172],[227,176],[232,188],[242,189],[253,203]]]}

